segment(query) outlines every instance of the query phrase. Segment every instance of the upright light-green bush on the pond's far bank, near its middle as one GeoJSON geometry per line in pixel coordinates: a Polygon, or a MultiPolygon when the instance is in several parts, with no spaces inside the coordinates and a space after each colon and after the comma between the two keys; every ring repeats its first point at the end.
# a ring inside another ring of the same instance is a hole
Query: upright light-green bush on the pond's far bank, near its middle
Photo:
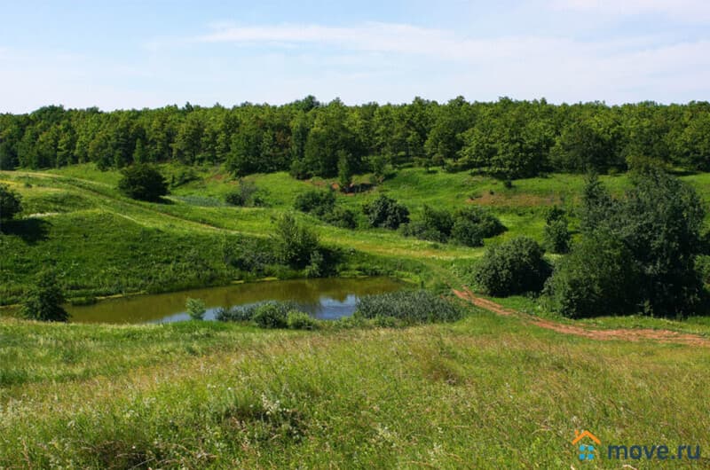
{"type": "Polygon", "coordinates": [[[293,214],[284,214],[276,220],[273,240],[280,260],[295,268],[304,268],[319,248],[318,236],[297,223],[293,214]]]}

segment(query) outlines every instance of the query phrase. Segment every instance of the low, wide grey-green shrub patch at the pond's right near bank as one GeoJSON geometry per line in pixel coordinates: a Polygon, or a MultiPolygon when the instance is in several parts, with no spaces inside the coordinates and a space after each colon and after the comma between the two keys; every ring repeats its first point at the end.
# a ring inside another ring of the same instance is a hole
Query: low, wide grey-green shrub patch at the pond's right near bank
{"type": "Polygon", "coordinates": [[[360,318],[397,318],[406,324],[451,322],[461,318],[461,309],[429,291],[399,291],[365,295],[357,303],[360,318]]]}

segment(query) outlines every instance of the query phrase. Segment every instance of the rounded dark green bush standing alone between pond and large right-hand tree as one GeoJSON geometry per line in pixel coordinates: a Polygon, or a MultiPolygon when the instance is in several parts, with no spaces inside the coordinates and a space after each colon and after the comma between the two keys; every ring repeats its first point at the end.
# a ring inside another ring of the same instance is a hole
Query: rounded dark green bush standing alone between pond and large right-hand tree
{"type": "Polygon", "coordinates": [[[474,281],[496,297],[539,292],[551,271],[544,254],[545,250],[527,237],[490,247],[474,270],[474,281]]]}

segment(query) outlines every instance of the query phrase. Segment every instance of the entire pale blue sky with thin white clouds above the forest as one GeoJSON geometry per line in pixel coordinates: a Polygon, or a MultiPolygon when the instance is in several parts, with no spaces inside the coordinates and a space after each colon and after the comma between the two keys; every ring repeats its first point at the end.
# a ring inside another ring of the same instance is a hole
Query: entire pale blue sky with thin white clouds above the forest
{"type": "Polygon", "coordinates": [[[708,0],[0,0],[0,113],[710,100],[708,0]]]}

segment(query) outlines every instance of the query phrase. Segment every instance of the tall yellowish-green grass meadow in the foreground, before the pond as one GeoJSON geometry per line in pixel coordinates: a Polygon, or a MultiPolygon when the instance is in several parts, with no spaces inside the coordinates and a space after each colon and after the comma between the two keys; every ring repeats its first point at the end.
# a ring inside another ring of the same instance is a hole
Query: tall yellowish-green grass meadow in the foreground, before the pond
{"type": "MultiPolygon", "coordinates": [[[[7,320],[0,332],[15,364],[0,466],[569,468],[576,428],[710,446],[707,349],[584,340],[475,309],[406,330],[7,320]]],[[[620,466],[608,464],[592,467],[620,466]]]]}

